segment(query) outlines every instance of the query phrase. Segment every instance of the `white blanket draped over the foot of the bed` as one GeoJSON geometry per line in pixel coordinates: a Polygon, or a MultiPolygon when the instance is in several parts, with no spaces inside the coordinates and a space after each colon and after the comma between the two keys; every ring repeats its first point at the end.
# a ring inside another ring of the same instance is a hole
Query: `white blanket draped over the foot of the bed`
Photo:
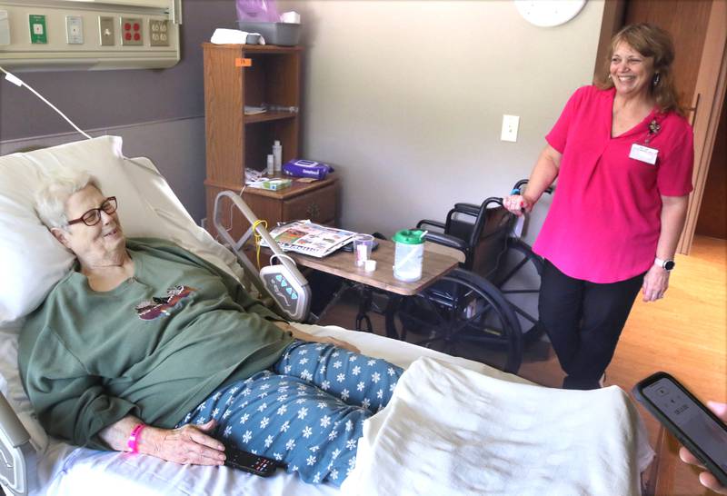
{"type": "Polygon", "coordinates": [[[653,451],[625,392],[562,391],[422,358],[364,424],[351,495],[640,493],[653,451]]]}

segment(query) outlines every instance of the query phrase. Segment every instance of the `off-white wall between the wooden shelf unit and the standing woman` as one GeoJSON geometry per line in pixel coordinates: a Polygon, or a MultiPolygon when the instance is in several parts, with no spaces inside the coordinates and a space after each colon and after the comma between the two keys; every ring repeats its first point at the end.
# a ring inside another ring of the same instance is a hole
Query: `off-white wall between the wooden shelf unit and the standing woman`
{"type": "Polygon", "coordinates": [[[339,171],[345,227],[386,234],[530,173],[568,96],[591,83],[603,16],[603,0],[553,28],[510,0],[279,6],[303,17],[304,155],[339,171]],[[521,116],[517,143],[499,139],[503,114],[521,116]]]}

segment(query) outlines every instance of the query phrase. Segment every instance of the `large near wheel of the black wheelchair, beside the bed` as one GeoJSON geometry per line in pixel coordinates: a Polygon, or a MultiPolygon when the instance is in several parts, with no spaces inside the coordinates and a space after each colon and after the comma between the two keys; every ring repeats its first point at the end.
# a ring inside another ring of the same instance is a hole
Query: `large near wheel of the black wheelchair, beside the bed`
{"type": "Polygon", "coordinates": [[[393,297],[386,309],[386,332],[430,347],[443,342],[443,351],[459,354],[459,342],[480,343],[506,352],[505,372],[516,373],[523,360],[523,334],[512,307],[483,277],[455,269],[422,293],[393,297]]]}

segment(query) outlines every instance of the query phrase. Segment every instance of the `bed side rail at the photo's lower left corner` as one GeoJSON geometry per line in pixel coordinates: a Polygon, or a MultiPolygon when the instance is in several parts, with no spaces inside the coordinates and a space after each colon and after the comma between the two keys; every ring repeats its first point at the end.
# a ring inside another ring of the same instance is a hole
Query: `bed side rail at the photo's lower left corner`
{"type": "Polygon", "coordinates": [[[5,494],[28,494],[35,485],[35,448],[30,434],[0,392],[0,485],[5,494]]]}

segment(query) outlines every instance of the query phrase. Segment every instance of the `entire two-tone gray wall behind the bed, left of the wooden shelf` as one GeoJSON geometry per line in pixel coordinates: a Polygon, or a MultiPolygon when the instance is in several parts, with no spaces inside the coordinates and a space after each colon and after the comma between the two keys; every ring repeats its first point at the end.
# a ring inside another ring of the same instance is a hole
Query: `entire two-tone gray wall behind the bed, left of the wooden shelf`
{"type": "MultiPolygon", "coordinates": [[[[126,156],[148,156],[189,213],[204,217],[202,48],[234,27],[233,0],[184,0],[182,60],[170,69],[17,73],[92,134],[124,137],[126,156]]],[[[0,80],[0,153],[83,139],[25,88],[0,80]]]]}

